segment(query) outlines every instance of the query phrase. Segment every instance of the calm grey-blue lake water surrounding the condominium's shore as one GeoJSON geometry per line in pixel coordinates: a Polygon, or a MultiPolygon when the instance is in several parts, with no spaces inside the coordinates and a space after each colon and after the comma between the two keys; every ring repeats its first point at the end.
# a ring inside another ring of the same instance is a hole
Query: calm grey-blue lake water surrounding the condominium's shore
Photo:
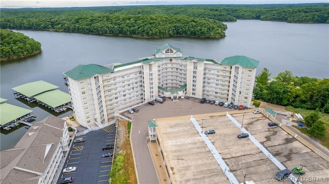
{"type": "MultiPolygon", "coordinates": [[[[238,20],[228,26],[223,39],[160,38],[102,36],[49,31],[14,30],[42,44],[38,55],[1,63],[1,96],[7,103],[31,109],[36,120],[49,112],[31,107],[14,98],[13,87],[44,80],[67,92],[63,72],[79,64],[106,65],[129,63],[154,54],[163,44],[181,49],[184,55],[223,60],[233,55],[245,55],[260,61],[257,74],[267,68],[275,77],[285,70],[294,76],[329,78],[329,25],[288,24],[257,20],[238,20]]],[[[64,117],[72,112],[58,115],[64,117]]],[[[13,148],[26,132],[22,126],[15,131],[1,132],[1,150],[13,148]]]]}

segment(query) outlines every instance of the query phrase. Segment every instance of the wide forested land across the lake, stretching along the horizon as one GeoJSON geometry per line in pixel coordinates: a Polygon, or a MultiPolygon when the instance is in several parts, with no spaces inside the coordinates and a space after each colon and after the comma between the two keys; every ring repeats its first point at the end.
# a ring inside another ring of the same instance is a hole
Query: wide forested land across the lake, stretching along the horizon
{"type": "Polygon", "coordinates": [[[2,29],[51,30],[144,38],[223,38],[222,22],[259,19],[329,23],[329,4],[181,5],[2,9],[2,29]]]}

